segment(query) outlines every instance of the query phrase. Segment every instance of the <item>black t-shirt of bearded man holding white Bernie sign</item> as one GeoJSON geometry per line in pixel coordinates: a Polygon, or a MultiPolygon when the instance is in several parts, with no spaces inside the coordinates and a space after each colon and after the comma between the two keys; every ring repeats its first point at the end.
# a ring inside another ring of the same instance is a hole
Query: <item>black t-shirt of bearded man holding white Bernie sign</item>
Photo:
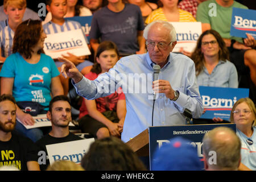
{"type": "MultiPolygon", "coordinates": [[[[40,151],[44,151],[46,152],[46,155],[48,156],[47,154],[47,150],[46,150],[46,146],[48,144],[56,144],[56,143],[63,143],[63,142],[71,142],[71,141],[75,141],[75,140],[82,140],[83,138],[75,135],[75,134],[72,134],[72,133],[69,133],[67,137],[62,137],[62,138],[56,138],[56,137],[52,137],[51,135],[47,134],[45,135],[44,137],[42,137],[41,139],[39,139],[37,142],[36,142],[36,145],[39,147],[39,150],[40,151]]],[[[39,153],[40,154],[40,153],[39,153]]],[[[46,164],[43,164],[42,163],[43,160],[40,160],[40,156],[39,156],[39,164],[40,164],[40,169],[42,171],[45,171],[46,168],[48,167],[49,165],[49,159],[47,158],[46,160],[46,164]]]]}

